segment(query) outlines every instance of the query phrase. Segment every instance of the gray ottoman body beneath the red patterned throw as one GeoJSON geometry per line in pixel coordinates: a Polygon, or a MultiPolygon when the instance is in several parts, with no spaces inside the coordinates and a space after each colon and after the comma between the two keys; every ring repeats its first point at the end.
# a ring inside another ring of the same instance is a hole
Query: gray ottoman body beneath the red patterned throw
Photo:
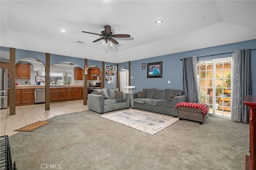
{"type": "Polygon", "coordinates": [[[182,121],[182,119],[188,119],[191,121],[197,121],[200,125],[202,125],[205,119],[208,117],[208,112],[204,116],[201,109],[182,106],[178,107],[178,117],[180,121],[182,121]]]}

